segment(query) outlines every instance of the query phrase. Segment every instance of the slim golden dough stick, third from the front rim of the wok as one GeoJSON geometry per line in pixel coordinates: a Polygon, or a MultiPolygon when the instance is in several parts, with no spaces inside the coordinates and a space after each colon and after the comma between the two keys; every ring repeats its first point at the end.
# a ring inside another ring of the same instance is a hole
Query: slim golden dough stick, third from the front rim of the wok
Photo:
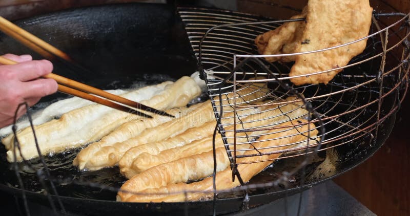
{"type": "MultiPolygon", "coordinates": [[[[289,97],[289,100],[293,100],[293,99],[294,97],[289,97]]],[[[295,104],[289,103],[286,105],[281,105],[280,109],[279,108],[273,109],[275,106],[262,106],[264,109],[270,108],[271,110],[262,112],[262,113],[252,114],[252,115],[242,118],[241,120],[243,123],[242,124],[237,123],[237,129],[262,127],[264,125],[273,125],[273,124],[288,121],[289,118],[293,119],[293,118],[301,117],[307,114],[307,111],[301,108],[301,106],[302,106],[301,102],[298,102],[295,104]],[[282,112],[286,113],[286,116],[282,115],[282,112]]],[[[261,109],[262,107],[259,107],[259,109],[261,109]]],[[[234,125],[230,125],[225,128],[226,130],[225,135],[228,138],[227,139],[228,143],[233,143],[233,137],[234,137],[233,129],[234,129],[234,125]]],[[[255,137],[263,133],[264,131],[253,131],[253,132],[247,132],[246,134],[237,133],[236,142],[237,143],[248,143],[249,139],[251,139],[251,138],[248,138],[248,136],[255,137]]],[[[223,146],[223,141],[219,134],[215,139],[215,145],[216,147],[223,146]]],[[[237,145],[237,149],[245,149],[248,147],[249,147],[248,144],[238,144],[237,145]]],[[[132,175],[138,174],[139,172],[147,170],[148,168],[154,167],[156,165],[167,163],[173,160],[177,160],[179,158],[196,155],[196,154],[200,154],[203,152],[208,152],[209,150],[212,150],[212,137],[201,139],[201,140],[196,140],[190,144],[178,146],[178,147],[171,148],[168,150],[163,150],[157,155],[143,153],[134,159],[132,166],[128,170],[129,173],[126,176],[130,177],[132,175]]],[[[237,154],[241,154],[241,153],[243,152],[238,152],[237,154]]]]}

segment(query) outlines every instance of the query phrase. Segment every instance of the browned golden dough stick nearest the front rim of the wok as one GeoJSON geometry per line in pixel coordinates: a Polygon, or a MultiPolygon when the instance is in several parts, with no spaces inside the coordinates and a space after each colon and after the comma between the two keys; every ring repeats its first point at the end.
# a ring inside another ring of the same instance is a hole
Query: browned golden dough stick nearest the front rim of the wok
{"type": "MultiPolygon", "coordinates": [[[[294,121],[289,121],[280,124],[279,126],[286,126],[292,124],[298,124],[299,122],[306,123],[306,120],[298,119],[294,121]]],[[[304,124],[299,126],[293,127],[285,127],[285,128],[278,128],[272,129],[268,132],[267,135],[261,136],[260,140],[268,140],[262,142],[254,142],[253,145],[259,149],[262,153],[268,153],[272,150],[281,150],[289,148],[289,145],[292,143],[300,143],[306,142],[307,137],[315,137],[318,134],[318,131],[315,129],[314,124],[304,124]],[[309,131],[310,129],[310,131],[309,131]],[[265,147],[273,147],[277,146],[274,149],[272,148],[265,148],[265,147]]],[[[310,144],[316,143],[314,140],[310,140],[310,144]]],[[[258,154],[256,150],[247,150],[245,153],[246,155],[251,154],[258,154]]],[[[255,156],[255,157],[246,157],[237,159],[239,163],[238,170],[241,175],[241,178],[244,182],[248,182],[253,176],[258,174],[262,171],[266,166],[268,166],[272,161],[264,161],[264,162],[257,162],[257,163],[246,163],[246,162],[253,162],[253,161],[260,161],[260,160],[272,160],[278,158],[280,154],[272,154],[272,155],[263,155],[263,156],[255,156]]],[[[212,160],[212,157],[208,158],[208,160],[212,160]]],[[[195,169],[192,167],[191,169],[195,169]]],[[[137,177],[137,176],[136,176],[137,177]]],[[[172,177],[170,177],[172,178],[172,177]]],[[[139,195],[135,195],[132,193],[127,192],[118,192],[117,200],[118,201],[125,201],[125,202],[182,202],[187,200],[198,200],[201,197],[210,196],[213,191],[213,184],[212,184],[212,177],[208,177],[202,181],[194,182],[191,184],[186,183],[171,183],[167,186],[162,186],[159,188],[149,188],[145,190],[139,190],[138,188],[134,188],[133,184],[127,184],[127,182],[122,185],[122,191],[130,191],[130,192],[140,192],[139,195]],[[209,192],[196,192],[196,193],[183,193],[183,191],[209,191],[209,192]],[[145,194],[144,194],[145,193],[145,194]],[[149,194],[152,195],[149,195],[149,194]],[[157,193],[157,194],[155,194],[157,193]],[[160,195],[159,193],[175,193],[169,195],[160,195]]],[[[129,181],[132,181],[129,180],[129,181]]],[[[161,180],[157,180],[161,181],[161,180]]],[[[168,180],[171,182],[170,180],[168,180]]],[[[216,182],[216,189],[223,190],[223,189],[230,189],[236,186],[239,186],[239,181],[236,180],[232,182],[232,170],[230,167],[217,172],[215,177],[216,182]]],[[[154,185],[154,183],[151,183],[154,185]]],[[[159,185],[159,184],[158,184],[159,185]]]]}

